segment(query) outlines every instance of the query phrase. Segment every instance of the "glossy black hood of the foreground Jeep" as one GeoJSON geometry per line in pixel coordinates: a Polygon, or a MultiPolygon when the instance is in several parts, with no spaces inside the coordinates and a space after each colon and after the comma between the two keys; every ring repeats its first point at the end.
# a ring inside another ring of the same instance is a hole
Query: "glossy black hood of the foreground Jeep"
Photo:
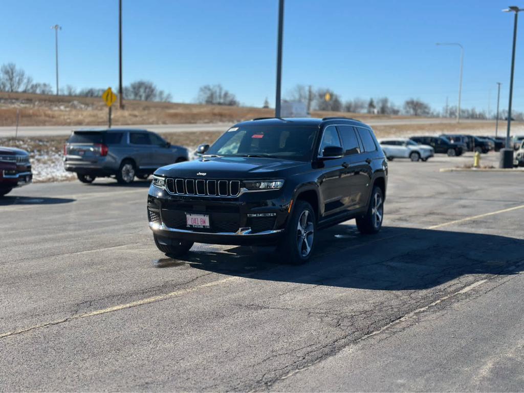
{"type": "Polygon", "coordinates": [[[157,169],[155,174],[174,178],[263,179],[285,176],[287,170],[297,167],[311,169],[311,163],[276,158],[209,157],[168,165],[157,169]]]}

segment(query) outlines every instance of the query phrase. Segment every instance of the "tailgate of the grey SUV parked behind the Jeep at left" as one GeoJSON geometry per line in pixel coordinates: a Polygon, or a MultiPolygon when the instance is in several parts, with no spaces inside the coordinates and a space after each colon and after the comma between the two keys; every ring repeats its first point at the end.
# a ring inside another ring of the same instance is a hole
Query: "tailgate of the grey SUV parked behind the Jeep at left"
{"type": "Polygon", "coordinates": [[[65,145],[65,159],[86,164],[98,162],[102,157],[104,139],[105,132],[102,131],[73,131],[65,145]]]}

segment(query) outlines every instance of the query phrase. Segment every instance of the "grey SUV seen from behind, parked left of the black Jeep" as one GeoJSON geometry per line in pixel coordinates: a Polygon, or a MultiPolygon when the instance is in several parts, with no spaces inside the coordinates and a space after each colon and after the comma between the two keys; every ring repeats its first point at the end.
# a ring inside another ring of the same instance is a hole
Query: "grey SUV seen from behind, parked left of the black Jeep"
{"type": "Polygon", "coordinates": [[[122,184],[147,179],[156,169],[187,161],[189,150],[171,146],[145,129],[108,128],[73,131],[64,145],[64,169],[83,183],[97,177],[116,177],[122,184]]]}

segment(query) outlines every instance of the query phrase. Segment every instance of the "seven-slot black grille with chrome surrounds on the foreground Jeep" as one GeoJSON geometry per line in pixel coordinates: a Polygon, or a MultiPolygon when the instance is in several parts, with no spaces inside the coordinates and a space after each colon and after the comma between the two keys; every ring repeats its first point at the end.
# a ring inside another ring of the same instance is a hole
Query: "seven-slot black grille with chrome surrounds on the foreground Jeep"
{"type": "Polygon", "coordinates": [[[198,196],[238,196],[239,180],[166,179],[170,194],[198,196]]]}

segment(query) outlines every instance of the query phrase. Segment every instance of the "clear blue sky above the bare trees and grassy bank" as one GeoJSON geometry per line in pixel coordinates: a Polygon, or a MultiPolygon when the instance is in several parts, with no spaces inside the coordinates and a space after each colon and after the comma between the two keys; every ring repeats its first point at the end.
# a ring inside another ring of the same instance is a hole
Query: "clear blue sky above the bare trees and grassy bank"
{"type": "MultiPolygon", "coordinates": [[[[519,0],[524,7],[524,0],[519,0]]],[[[147,79],[193,102],[199,86],[222,83],[245,105],[273,105],[277,0],[123,0],[124,84],[147,79]]],[[[513,14],[505,0],[286,0],[283,95],[296,84],[333,89],[343,100],[419,97],[456,104],[465,48],[463,107],[508,102],[513,14]]],[[[2,2],[0,63],[15,62],[54,86],[60,24],[60,85],[117,86],[118,1],[2,2]]],[[[524,111],[524,13],[517,42],[514,109],[524,111]]]]}

